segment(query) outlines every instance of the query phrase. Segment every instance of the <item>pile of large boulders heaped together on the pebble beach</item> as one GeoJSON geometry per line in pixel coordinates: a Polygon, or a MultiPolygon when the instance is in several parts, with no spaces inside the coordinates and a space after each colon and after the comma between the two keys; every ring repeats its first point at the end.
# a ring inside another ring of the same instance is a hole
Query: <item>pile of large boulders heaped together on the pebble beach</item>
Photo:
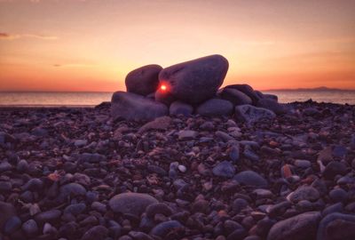
{"type": "Polygon", "coordinates": [[[210,55],[169,68],[147,65],[125,79],[127,92],[114,92],[114,119],[150,121],[158,116],[198,114],[234,116],[248,124],[285,112],[275,95],[255,91],[248,84],[219,89],[228,71],[228,60],[210,55]]]}

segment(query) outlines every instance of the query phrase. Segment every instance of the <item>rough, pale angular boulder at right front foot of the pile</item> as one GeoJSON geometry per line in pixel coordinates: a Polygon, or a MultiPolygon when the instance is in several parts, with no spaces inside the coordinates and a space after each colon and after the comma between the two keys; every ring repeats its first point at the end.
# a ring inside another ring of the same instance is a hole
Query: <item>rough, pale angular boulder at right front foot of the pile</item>
{"type": "Polygon", "coordinates": [[[235,117],[248,124],[254,124],[261,119],[273,119],[276,115],[269,109],[241,105],[235,107],[235,117]]]}

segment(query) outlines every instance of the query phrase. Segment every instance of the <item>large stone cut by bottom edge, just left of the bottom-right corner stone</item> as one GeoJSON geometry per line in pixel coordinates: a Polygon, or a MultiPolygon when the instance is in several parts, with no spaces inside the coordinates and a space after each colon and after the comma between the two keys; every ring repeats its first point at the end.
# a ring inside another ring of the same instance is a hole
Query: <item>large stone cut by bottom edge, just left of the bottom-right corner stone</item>
{"type": "Polygon", "coordinates": [[[315,239],[319,220],[319,212],[304,212],[287,220],[280,220],[270,229],[267,240],[315,239]]]}

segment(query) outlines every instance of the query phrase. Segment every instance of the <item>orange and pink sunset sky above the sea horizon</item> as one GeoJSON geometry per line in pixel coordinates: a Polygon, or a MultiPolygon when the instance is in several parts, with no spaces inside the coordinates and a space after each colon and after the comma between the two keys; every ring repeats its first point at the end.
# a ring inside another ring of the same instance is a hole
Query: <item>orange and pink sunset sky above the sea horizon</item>
{"type": "Polygon", "coordinates": [[[0,91],[114,92],[210,54],[224,84],[355,89],[354,0],[0,0],[0,91]]]}

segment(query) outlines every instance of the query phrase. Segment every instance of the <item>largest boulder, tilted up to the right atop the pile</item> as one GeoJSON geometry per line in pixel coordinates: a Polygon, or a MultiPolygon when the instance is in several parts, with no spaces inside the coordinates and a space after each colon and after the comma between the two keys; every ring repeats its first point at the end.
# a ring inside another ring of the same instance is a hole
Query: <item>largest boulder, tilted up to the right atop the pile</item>
{"type": "Polygon", "coordinates": [[[164,68],[159,81],[177,100],[196,104],[216,94],[227,70],[228,60],[221,55],[211,55],[164,68]]]}

